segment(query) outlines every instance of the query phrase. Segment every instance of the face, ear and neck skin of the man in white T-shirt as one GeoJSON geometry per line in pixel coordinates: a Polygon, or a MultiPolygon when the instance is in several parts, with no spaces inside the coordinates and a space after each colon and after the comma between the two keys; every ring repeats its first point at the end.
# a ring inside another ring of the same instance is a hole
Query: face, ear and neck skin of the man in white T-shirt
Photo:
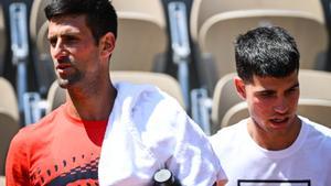
{"type": "Polygon", "coordinates": [[[239,96],[247,101],[248,132],[261,147],[284,150],[297,139],[299,81],[297,72],[284,78],[254,76],[253,83],[235,79],[239,96]]]}

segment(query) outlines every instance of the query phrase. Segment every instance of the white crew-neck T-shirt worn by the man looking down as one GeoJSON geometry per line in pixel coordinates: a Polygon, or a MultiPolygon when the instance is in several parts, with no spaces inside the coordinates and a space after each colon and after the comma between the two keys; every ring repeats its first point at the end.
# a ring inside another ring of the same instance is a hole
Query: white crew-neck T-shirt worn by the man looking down
{"type": "Polygon", "coordinates": [[[210,140],[228,186],[331,186],[331,130],[300,117],[293,144],[281,151],[260,147],[247,120],[224,128],[210,140]],[[308,184],[310,182],[310,184],[308,184]]]}

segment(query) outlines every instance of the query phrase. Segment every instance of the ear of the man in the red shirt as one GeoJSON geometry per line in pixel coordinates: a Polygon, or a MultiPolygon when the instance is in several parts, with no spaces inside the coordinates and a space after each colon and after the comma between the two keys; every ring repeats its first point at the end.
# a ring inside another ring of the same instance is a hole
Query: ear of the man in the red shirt
{"type": "Polygon", "coordinates": [[[99,41],[100,55],[109,58],[115,48],[115,36],[111,32],[107,32],[99,41]]]}

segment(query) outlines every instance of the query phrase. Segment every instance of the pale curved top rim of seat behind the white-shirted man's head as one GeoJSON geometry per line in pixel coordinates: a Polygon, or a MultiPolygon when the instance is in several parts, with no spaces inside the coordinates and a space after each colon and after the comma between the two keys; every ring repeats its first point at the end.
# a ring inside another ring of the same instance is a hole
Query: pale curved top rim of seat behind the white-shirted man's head
{"type": "Polygon", "coordinates": [[[318,0],[194,0],[191,10],[192,37],[196,39],[202,24],[215,14],[254,9],[303,11],[324,22],[322,4],[318,0]]]}

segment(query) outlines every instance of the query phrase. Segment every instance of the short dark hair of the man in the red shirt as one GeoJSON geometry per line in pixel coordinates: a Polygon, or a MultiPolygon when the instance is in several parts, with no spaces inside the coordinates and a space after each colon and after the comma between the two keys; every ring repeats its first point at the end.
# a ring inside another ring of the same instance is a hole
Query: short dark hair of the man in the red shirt
{"type": "Polygon", "coordinates": [[[117,14],[109,0],[52,0],[44,11],[47,20],[56,17],[86,15],[86,25],[96,43],[107,32],[117,36],[117,14]]]}

